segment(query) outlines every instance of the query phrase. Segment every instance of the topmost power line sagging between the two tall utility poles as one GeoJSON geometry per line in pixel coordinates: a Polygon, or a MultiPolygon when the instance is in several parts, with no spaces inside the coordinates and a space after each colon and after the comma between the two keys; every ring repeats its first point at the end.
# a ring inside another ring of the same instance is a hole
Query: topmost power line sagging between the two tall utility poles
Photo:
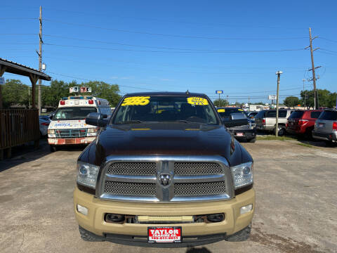
{"type": "Polygon", "coordinates": [[[292,38],[223,38],[223,37],[202,37],[202,36],[188,36],[188,35],[179,35],[179,34],[161,34],[161,33],[152,33],[152,32],[143,32],[143,31],[131,31],[131,30],[124,30],[124,29],[117,29],[117,28],[110,28],[110,27],[100,27],[96,25],[84,25],[79,23],[73,22],[63,22],[60,20],[51,20],[51,19],[44,19],[48,22],[57,22],[64,25],[74,25],[80,27],[91,27],[100,30],[110,30],[116,32],[126,32],[126,33],[133,33],[133,34],[145,34],[145,35],[152,35],[152,36],[161,36],[161,37],[179,37],[179,38],[187,38],[187,39],[220,39],[220,40],[282,40],[282,39],[305,39],[305,37],[292,37],[292,38]]]}

